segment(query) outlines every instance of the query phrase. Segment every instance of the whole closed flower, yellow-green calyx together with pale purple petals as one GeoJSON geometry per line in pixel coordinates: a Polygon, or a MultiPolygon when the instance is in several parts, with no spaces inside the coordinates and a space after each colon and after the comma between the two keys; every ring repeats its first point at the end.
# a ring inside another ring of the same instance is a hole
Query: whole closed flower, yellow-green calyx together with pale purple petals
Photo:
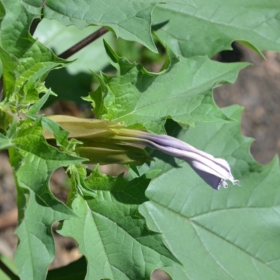
{"type": "MultiPolygon", "coordinates": [[[[156,135],[142,130],[130,130],[122,123],[108,120],[83,119],[70,116],[50,116],[48,119],[59,123],[70,132],[69,138],[83,142],[76,148],[83,157],[91,158],[92,163],[142,164],[151,160],[144,150],[128,147],[127,144],[142,144],[185,160],[193,170],[212,188],[227,188],[225,181],[238,184],[230,171],[230,165],[221,158],[198,150],[185,142],[167,135],[156,135]],[[124,144],[126,147],[124,148],[124,144]],[[92,155],[89,157],[89,155],[92,155]],[[97,161],[97,162],[94,162],[97,161]]],[[[47,130],[50,128],[46,126],[47,130]]],[[[55,139],[54,132],[45,131],[45,139],[55,139]]]]}

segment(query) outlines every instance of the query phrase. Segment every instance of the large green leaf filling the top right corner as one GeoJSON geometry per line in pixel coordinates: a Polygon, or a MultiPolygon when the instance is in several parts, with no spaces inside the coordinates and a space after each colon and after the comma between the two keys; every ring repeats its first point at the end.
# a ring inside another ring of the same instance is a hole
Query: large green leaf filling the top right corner
{"type": "Polygon", "coordinates": [[[259,50],[280,50],[278,0],[194,0],[194,6],[156,6],[155,34],[176,55],[212,57],[230,50],[232,41],[247,41],[259,50]]]}

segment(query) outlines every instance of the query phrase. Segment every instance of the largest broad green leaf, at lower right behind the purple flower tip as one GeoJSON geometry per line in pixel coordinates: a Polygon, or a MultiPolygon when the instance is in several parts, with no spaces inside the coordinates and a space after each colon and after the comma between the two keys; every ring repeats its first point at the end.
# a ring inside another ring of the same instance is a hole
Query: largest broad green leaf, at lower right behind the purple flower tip
{"type": "MultiPolygon", "coordinates": [[[[240,121],[239,106],[223,111],[240,121]]],[[[239,121],[200,123],[179,139],[228,160],[241,186],[213,190],[186,162],[165,155],[151,166],[162,172],[139,211],[182,262],[183,269],[168,270],[174,279],[280,279],[279,160],[258,165],[239,121]]]]}

